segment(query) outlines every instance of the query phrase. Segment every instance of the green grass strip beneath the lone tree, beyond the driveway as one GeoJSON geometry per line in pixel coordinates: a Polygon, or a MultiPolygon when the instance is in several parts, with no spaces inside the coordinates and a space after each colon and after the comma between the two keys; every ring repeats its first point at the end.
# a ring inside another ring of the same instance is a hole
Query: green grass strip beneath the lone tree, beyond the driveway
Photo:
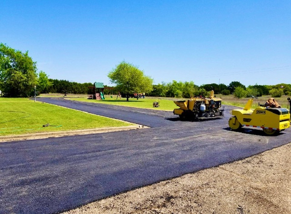
{"type": "MultiPolygon", "coordinates": [[[[152,109],[152,110],[165,110],[165,111],[173,111],[178,108],[178,106],[173,102],[173,100],[169,100],[166,97],[162,99],[158,98],[130,98],[126,101],[126,98],[116,99],[115,96],[106,96],[104,100],[95,100],[95,99],[87,99],[87,98],[70,98],[72,100],[77,101],[85,101],[85,102],[95,102],[95,103],[103,103],[103,104],[113,104],[113,105],[121,105],[121,106],[129,106],[135,108],[142,109],[152,109]],[[154,108],[153,102],[158,101],[159,107],[154,108]]],[[[176,99],[179,100],[179,99],[176,99]]]]}

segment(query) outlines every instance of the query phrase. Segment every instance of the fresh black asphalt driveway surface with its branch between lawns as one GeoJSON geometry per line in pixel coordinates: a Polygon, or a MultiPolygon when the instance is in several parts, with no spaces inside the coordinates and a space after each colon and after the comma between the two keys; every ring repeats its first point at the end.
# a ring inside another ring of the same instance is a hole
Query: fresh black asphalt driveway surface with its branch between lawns
{"type": "Polygon", "coordinates": [[[172,112],[38,98],[151,128],[0,144],[0,213],[57,213],[290,142],[291,130],[228,128],[223,119],[180,121],[172,112]]]}

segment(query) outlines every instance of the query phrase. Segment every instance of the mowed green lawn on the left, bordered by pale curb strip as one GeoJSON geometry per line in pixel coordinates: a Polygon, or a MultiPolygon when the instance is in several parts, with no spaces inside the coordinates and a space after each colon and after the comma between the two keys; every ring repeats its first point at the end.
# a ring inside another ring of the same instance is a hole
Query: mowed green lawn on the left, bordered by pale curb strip
{"type": "Polygon", "coordinates": [[[0,136],[130,125],[28,98],[0,98],[0,136]]]}

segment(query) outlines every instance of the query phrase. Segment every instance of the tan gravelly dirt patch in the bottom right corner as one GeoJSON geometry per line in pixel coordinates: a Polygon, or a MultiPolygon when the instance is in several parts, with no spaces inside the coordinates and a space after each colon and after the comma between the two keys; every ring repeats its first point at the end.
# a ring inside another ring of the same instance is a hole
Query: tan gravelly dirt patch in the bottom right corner
{"type": "Polygon", "coordinates": [[[64,213],[291,213],[291,144],[64,213]]]}

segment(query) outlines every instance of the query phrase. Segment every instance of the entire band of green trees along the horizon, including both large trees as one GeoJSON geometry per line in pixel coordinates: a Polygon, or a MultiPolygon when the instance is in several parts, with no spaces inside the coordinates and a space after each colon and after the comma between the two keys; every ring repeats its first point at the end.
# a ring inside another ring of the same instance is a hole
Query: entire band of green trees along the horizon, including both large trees
{"type": "MultiPolygon", "coordinates": [[[[138,66],[125,61],[116,65],[108,73],[108,78],[116,86],[105,85],[104,94],[112,95],[118,94],[118,92],[126,94],[145,92],[147,96],[190,98],[207,96],[211,90],[214,90],[215,94],[234,94],[237,98],[291,95],[290,84],[246,87],[238,81],[233,81],[229,85],[212,83],[198,86],[193,81],[177,82],[173,80],[171,83],[153,85],[153,79],[145,76],[138,66]]],[[[28,51],[22,53],[3,43],[0,43],[0,90],[4,95],[10,97],[33,96],[35,90],[38,93],[94,93],[93,83],[49,79],[42,70],[38,73],[37,63],[28,56],[28,51]]]]}

